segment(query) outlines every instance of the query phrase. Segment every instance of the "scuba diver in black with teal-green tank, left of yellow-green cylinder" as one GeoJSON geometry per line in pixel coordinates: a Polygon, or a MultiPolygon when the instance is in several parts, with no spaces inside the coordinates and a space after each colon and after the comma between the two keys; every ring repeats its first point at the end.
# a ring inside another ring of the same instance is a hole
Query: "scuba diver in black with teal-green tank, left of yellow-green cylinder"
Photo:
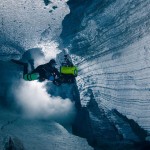
{"type": "Polygon", "coordinates": [[[31,68],[33,71],[28,72],[28,63],[21,62],[19,60],[11,59],[11,61],[15,64],[23,66],[23,79],[26,81],[39,80],[40,82],[47,80],[53,81],[55,84],[55,79],[60,76],[59,71],[56,66],[56,61],[51,59],[48,63],[39,65],[34,69],[33,61],[30,60],[31,68]]]}

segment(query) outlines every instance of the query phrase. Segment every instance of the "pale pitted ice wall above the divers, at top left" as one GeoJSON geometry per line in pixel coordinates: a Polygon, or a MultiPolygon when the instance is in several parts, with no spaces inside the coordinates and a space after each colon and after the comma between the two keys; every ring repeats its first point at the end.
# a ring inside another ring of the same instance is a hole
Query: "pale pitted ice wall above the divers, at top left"
{"type": "Polygon", "coordinates": [[[0,2],[0,60],[19,58],[27,49],[58,40],[69,9],[65,1],[19,0],[0,2]]]}

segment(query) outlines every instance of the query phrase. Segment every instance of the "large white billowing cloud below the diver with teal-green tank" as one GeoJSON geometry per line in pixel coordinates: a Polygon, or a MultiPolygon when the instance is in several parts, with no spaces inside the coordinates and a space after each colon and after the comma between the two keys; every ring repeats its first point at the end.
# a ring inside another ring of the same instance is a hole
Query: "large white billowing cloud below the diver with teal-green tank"
{"type": "Polygon", "coordinates": [[[21,81],[14,94],[25,117],[68,123],[75,116],[74,103],[70,99],[49,95],[45,83],[21,81]]]}

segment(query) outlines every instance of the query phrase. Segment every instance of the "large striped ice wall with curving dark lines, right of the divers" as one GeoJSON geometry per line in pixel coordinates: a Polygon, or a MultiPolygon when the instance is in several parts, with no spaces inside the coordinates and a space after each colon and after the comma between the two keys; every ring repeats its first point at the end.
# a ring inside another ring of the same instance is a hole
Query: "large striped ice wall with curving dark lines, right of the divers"
{"type": "Polygon", "coordinates": [[[89,103],[90,89],[106,114],[117,109],[150,132],[150,2],[70,0],[68,5],[61,38],[79,67],[81,104],[89,103]]]}

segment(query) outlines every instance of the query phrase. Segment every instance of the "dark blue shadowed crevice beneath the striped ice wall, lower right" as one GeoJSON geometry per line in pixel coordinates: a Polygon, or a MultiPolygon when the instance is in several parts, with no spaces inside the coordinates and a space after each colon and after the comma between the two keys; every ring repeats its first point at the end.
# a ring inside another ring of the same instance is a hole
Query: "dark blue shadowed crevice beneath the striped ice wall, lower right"
{"type": "Polygon", "coordinates": [[[140,139],[140,141],[125,140],[116,126],[109,121],[104,110],[99,108],[91,89],[87,92],[90,96],[90,102],[87,107],[82,107],[81,104],[79,105],[80,96],[77,87],[75,93],[76,96],[78,95],[78,99],[74,97],[74,100],[78,104],[76,104],[77,115],[72,125],[72,133],[74,135],[86,138],[94,150],[149,150],[150,142],[145,141],[147,132],[134,120],[128,119],[117,110],[113,110],[125,122],[130,124],[133,132],[140,139]],[[99,121],[97,122],[92,119],[91,114],[99,121]]]}

